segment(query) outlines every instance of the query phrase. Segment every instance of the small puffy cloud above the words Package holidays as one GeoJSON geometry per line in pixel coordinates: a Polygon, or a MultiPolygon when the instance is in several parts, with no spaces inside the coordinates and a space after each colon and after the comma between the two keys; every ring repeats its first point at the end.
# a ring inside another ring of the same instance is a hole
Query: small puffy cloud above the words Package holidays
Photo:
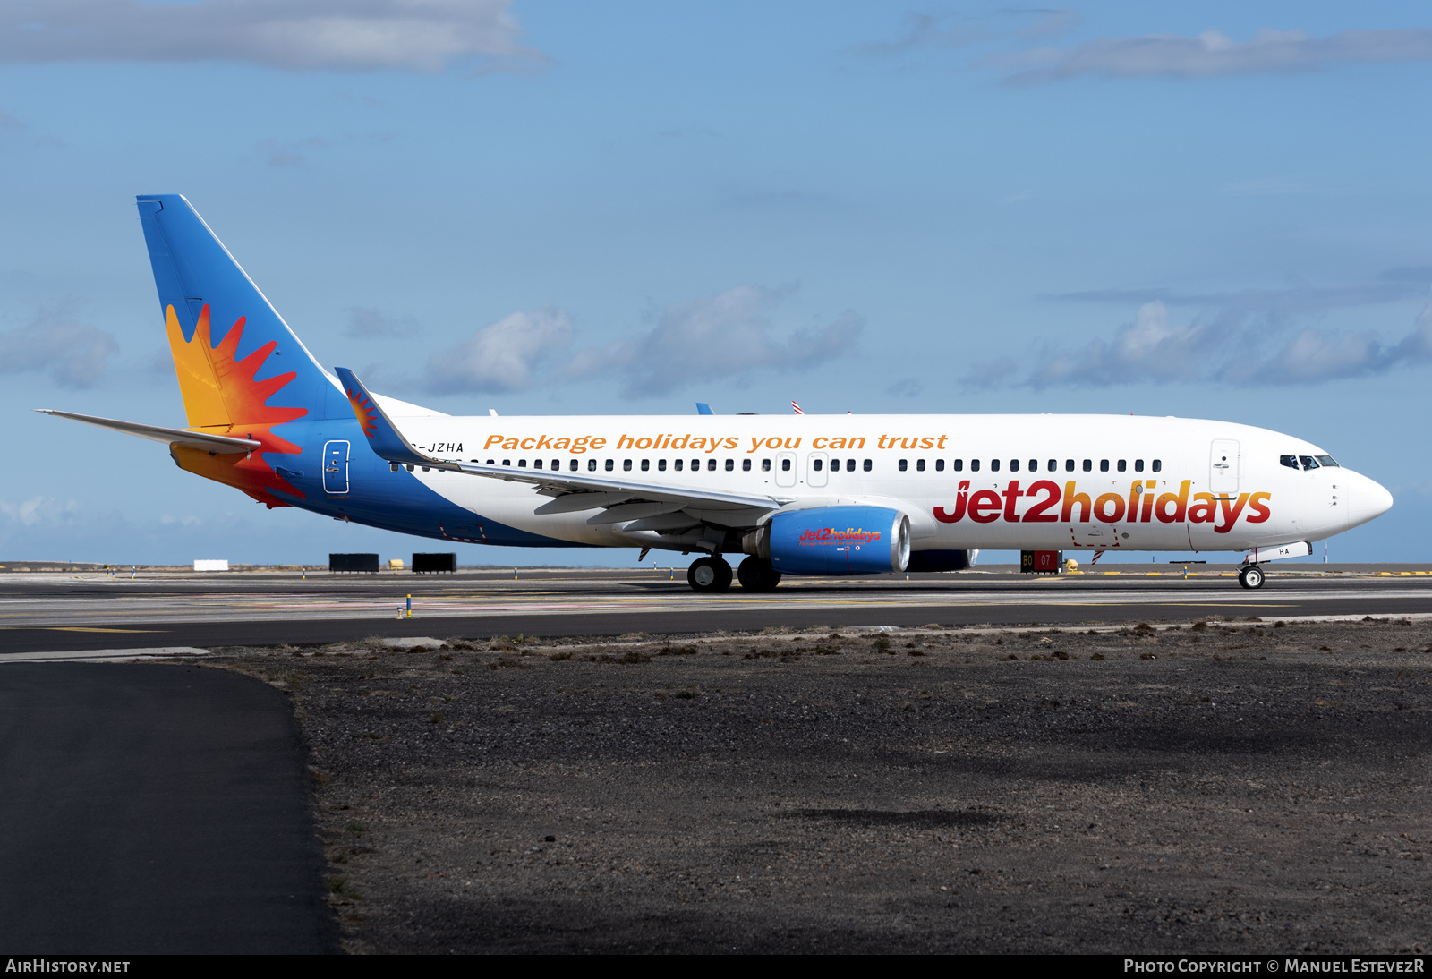
{"type": "Polygon", "coordinates": [[[536,369],[571,345],[571,322],[561,309],[516,312],[428,359],[428,388],[457,391],[521,391],[536,369]]]}

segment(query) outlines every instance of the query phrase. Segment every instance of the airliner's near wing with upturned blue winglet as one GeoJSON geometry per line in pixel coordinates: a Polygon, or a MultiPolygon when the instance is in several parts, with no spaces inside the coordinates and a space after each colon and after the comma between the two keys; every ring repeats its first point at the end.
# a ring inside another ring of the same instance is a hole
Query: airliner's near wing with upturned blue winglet
{"type": "MultiPolygon", "coordinates": [[[[639,479],[624,479],[619,477],[599,477],[583,472],[558,472],[550,469],[514,469],[508,465],[480,465],[477,462],[463,462],[461,459],[440,459],[414,448],[392,419],[382,411],[378,401],[362,385],[362,381],[348,368],[335,368],[338,379],[348,394],[348,401],[358,417],[358,425],[368,435],[368,445],[378,458],[402,465],[424,465],[430,469],[447,469],[448,472],[465,472],[467,475],[487,477],[490,479],[505,479],[507,482],[527,482],[534,490],[548,497],[558,497],[540,507],[536,512],[574,512],[579,510],[609,508],[630,504],[633,500],[652,501],[653,504],[680,504],[682,507],[702,507],[709,510],[726,510],[750,507],[756,510],[779,510],[793,497],[772,497],[749,492],[723,492],[709,487],[680,487],[670,484],[653,484],[639,479]],[[587,498],[574,498],[569,494],[590,494],[587,498]]],[[[624,520],[646,517],[650,514],[632,512],[624,520]]]]}

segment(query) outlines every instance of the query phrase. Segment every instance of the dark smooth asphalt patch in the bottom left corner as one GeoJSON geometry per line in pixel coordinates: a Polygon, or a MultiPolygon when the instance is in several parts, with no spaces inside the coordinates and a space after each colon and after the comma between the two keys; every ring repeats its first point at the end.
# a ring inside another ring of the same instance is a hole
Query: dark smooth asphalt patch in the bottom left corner
{"type": "Polygon", "coordinates": [[[7,664],[0,784],[7,953],[338,950],[306,750],[265,683],[7,664]]]}

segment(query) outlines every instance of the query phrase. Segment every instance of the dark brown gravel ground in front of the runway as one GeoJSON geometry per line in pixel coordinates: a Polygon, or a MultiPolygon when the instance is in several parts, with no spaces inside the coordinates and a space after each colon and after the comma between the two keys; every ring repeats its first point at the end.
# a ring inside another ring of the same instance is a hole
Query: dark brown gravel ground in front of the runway
{"type": "Polygon", "coordinates": [[[378,643],[218,657],[351,952],[1432,949],[1425,620],[378,643]]]}

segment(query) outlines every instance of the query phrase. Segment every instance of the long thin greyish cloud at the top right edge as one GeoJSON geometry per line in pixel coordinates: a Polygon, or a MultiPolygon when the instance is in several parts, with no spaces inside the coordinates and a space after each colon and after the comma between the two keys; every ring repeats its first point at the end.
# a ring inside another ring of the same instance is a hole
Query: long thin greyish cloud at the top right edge
{"type": "Polygon", "coordinates": [[[1263,30],[1247,42],[1236,42],[1217,30],[1193,37],[1100,37],[1073,47],[997,56],[990,63],[1020,69],[1007,79],[1010,84],[1041,84],[1080,76],[1199,79],[1393,62],[1432,62],[1432,30],[1343,30],[1327,37],[1312,37],[1300,30],[1263,30]]]}

